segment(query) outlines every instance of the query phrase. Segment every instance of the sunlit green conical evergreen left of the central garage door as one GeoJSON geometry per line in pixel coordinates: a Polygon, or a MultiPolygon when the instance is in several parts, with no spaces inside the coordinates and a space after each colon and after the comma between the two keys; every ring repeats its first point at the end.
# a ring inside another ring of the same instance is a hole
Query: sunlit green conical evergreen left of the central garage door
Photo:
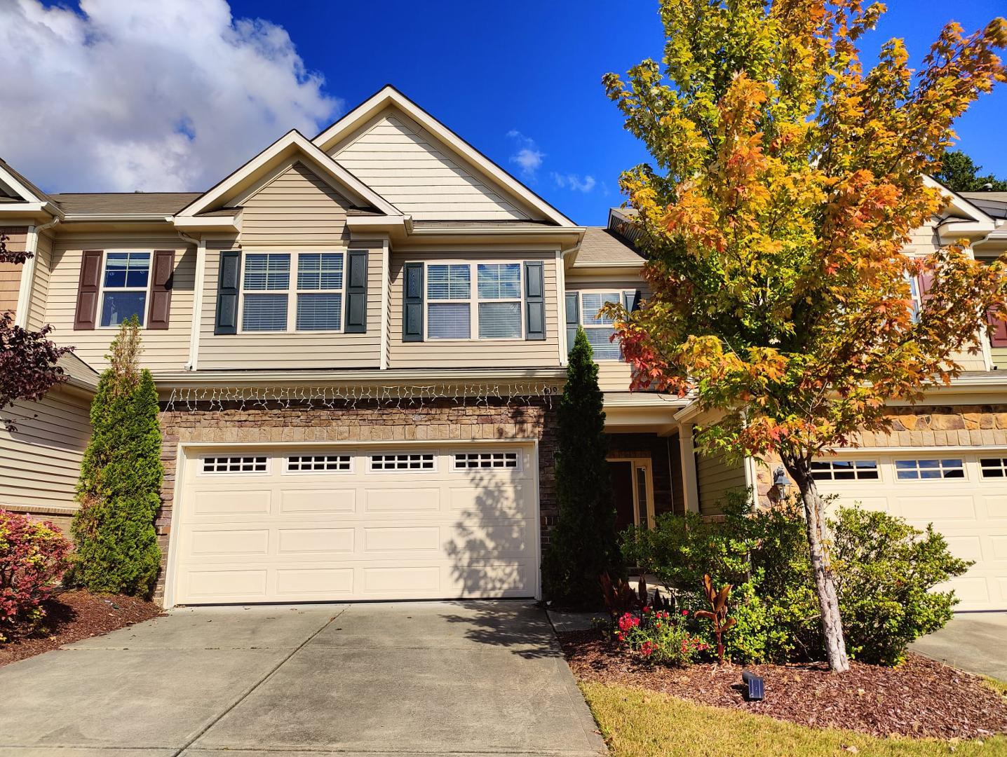
{"type": "Polygon", "coordinates": [[[91,443],[81,463],[81,509],[67,583],[95,592],[149,597],[161,564],[154,517],[160,504],[157,391],[140,370],[139,323],[124,322],[91,404],[91,443]]]}

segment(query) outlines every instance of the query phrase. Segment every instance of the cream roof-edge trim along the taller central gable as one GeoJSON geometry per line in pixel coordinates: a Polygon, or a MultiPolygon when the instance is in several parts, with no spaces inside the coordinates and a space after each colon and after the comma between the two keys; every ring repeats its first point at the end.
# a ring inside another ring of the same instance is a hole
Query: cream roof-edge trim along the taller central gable
{"type": "Polygon", "coordinates": [[[544,217],[561,226],[576,225],[566,215],[561,213],[545,199],[516,179],[495,162],[487,158],[472,145],[459,137],[441,122],[420,108],[391,85],[386,85],[380,92],[373,95],[361,105],[323,129],[311,141],[321,150],[328,152],[340,141],[345,140],[369,120],[383,111],[394,107],[409,119],[414,121],[424,131],[439,142],[450,148],[460,159],[473,166],[493,183],[506,190],[522,203],[534,208],[544,217]]]}

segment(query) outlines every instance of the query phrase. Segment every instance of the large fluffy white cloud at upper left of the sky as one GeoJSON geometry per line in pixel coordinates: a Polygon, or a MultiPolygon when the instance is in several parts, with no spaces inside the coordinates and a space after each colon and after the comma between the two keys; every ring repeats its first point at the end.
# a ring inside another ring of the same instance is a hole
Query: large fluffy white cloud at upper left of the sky
{"type": "Polygon", "coordinates": [[[207,189],[342,104],[226,0],[0,0],[3,157],[53,191],[207,189]]]}

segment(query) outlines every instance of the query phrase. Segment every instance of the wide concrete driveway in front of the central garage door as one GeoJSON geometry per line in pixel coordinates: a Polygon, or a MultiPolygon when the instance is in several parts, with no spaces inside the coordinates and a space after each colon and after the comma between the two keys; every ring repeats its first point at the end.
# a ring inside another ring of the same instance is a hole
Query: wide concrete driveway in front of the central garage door
{"type": "Polygon", "coordinates": [[[205,607],[0,668],[0,757],[603,754],[521,602],[205,607]]]}

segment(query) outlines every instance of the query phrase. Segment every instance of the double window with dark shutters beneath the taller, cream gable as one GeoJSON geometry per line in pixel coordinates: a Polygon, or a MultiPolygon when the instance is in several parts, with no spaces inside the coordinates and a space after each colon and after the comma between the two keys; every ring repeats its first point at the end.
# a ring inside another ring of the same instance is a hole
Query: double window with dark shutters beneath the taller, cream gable
{"type": "Polygon", "coordinates": [[[521,263],[429,264],[427,338],[470,339],[475,333],[480,339],[521,339],[521,263]]]}

